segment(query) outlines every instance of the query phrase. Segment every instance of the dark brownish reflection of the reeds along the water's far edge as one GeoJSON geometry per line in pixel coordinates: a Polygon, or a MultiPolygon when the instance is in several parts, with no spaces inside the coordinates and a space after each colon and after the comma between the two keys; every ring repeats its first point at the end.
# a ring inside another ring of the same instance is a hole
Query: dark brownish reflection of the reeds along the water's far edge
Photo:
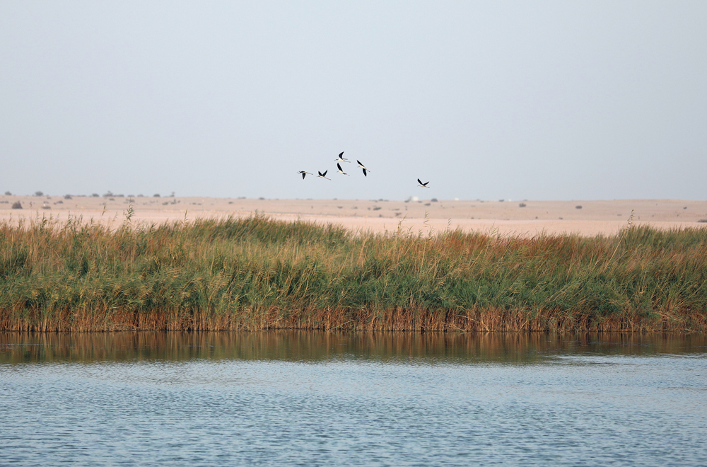
{"type": "Polygon", "coordinates": [[[707,335],[544,333],[325,333],[313,331],[0,333],[0,362],[339,358],[532,363],[555,354],[689,354],[707,335]]]}

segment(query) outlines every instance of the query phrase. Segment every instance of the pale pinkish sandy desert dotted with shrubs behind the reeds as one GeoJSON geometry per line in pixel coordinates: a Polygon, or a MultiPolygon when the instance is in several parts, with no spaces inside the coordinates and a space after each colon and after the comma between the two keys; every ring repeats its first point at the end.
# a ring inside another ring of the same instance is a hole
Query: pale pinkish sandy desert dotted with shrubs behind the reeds
{"type": "MultiPolygon", "coordinates": [[[[66,220],[69,215],[117,226],[131,203],[126,197],[0,196],[0,220],[66,220]],[[14,202],[23,209],[11,209],[14,202]]],[[[414,233],[460,228],[501,235],[612,234],[635,224],[660,229],[707,227],[707,201],[457,201],[440,200],[248,200],[208,197],[133,197],[134,224],[206,217],[247,216],[263,212],[278,219],[341,224],[376,232],[401,228],[414,233]]]]}

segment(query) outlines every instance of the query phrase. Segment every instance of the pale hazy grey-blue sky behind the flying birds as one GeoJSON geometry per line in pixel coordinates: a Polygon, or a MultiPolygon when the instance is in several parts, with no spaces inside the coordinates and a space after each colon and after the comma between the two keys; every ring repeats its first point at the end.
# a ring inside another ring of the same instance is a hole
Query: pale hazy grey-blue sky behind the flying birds
{"type": "Polygon", "coordinates": [[[705,200],[706,175],[703,0],[0,1],[0,193],[705,200]]]}

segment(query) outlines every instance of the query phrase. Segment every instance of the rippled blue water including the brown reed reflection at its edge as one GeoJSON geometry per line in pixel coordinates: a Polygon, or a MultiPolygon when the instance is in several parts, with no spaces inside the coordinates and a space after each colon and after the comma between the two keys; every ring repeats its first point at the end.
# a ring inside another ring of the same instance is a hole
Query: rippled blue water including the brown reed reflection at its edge
{"type": "Polygon", "coordinates": [[[0,464],[707,465],[707,336],[0,333],[0,464]]]}

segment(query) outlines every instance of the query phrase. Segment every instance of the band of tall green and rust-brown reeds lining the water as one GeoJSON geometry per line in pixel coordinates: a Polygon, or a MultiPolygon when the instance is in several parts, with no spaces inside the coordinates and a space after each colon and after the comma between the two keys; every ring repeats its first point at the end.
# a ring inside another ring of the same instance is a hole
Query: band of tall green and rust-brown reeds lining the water
{"type": "Polygon", "coordinates": [[[707,330],[707,231],[0,226],[1,330],[707,330]]]}

